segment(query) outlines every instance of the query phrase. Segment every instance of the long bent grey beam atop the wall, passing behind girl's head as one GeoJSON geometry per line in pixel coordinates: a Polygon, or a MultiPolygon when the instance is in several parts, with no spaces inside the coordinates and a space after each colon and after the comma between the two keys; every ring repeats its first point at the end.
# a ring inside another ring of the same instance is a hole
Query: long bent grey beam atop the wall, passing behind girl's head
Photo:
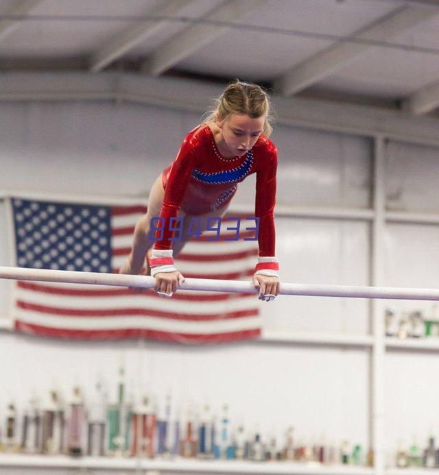
{"type": "MultiPolygon", "coordinates": [[[[127,73],[5,73],[1,101],[132,101],[203,114],[224,84],[127,73]]],[[[439,120],[404,110],[274,97],[276,123],[439,147],[439,120]]]]}

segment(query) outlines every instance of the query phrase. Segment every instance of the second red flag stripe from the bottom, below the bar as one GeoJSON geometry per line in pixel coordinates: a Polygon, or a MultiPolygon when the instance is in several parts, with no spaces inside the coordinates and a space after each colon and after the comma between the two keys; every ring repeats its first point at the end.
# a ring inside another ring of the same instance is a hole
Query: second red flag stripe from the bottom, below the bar
{"type": "Polygon", "coordinates": [[[152,308],[93,308],[89,310],[82,310],[79,308],[58,308],[47,305],[29,304],[23,300],[17,300],[16,306],[23,308],[23,310],[31,310],[36,313],[45,313],[51,315],[60,315],[62,317],[161,317],[173,320],[187,320],[187,321],[211,321],[234,319],[241,317],[254,317],[258,315],[257,308],[250,308],[248,310],[236,310],[235,312],[221,312],[221,313],[182,313],[182,312],[165,312],[163,310],[155,310],[152,308]]]}

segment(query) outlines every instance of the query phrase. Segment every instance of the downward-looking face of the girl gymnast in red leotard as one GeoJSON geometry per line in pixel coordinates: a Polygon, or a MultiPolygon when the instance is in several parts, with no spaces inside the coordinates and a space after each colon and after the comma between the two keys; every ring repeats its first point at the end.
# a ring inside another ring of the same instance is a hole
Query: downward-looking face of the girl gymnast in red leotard
{"type": "Polygon", "coordinates": [[[218,123],[222,138],[234,156],[243,156],[257,143],[264,124],[265,115],[251,119],[246,114],[232,114],[218,123]]]}

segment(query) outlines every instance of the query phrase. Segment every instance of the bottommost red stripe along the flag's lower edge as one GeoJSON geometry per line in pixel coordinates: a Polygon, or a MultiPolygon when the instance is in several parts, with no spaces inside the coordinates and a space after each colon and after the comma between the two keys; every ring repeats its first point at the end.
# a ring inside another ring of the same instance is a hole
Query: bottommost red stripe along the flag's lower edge
{"type": "Polygon", "coordinates": [[[261,330],[241,330],[238,332],[191,334],[147,330],[145,328],[123,328],[120,330],[72,330],[70,328],[50,328],[47,326],[27,324],[25,321],[16,321],[17,331],[39,335],[41,337],[65,339],[128,339],[146,338],[172,343],[224,343],[244,339],[254,339],[261,336],[261,330]]]}

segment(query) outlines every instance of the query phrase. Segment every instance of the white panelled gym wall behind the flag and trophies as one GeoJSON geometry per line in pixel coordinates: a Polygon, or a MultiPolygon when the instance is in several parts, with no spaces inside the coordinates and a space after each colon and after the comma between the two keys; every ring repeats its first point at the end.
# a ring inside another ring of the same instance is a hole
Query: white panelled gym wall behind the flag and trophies
{"type": "MultiPolygon", "coordinates": [[[[131,103],[2,103],[0,189],[145,197],[198,119],[191,113],[131,103]]],[[[276,127],[272,139],[280,156],[279,204],[370,206],[372,144],[366,138],[276,127]]],[[[389,145],[388,208],[436,210],[439,206],[436,151],[418,148],[389,145]],[[412,167],[413,156],[417,160],[412,167]],[[407,179],[412,171],[416,180],[407,179]],[[395,193],[401,197],[397,206],[395,193]]],[[[249,178],[235,202],[252,204],[253,188],[254,179],[249,178]]],[[[10,256],[1,205],[0,220],[0,264],[7,265],[10,256]]],[[[370,282],[367,223],[282,217],[276,220],[276,229],[285,282],[370,282]]],[[[394,225],[386,233],[386,283],[434,287],[439,277],[439,266],[434,264],[439,261],[438,228],[394,225]]],[[[261,302],[261,310],[266,328],[366,334],[369,327],[368,302],[363,300],[279,297],[270,304],[261,302]]],[[[0,282],[1,315],[7,311],[8,284],[0,282]]],[[[97,372],[114,380],[123,354],[129,379],[143,380],[158,400],[171,387],[182,405],[208,398],[219,409],[228,402],[232,419],[244,418],[248,428],[259,424],[267,432],[277,432],[293,424],[299,438],[310,440],[326,433],[337,443],[347,437],[368,448],[366,350],[259,343],[202,348],[137,341],[67,343],[7,333],[0,334],[0,345],[0,375],[8,388],[0,393],[0,417],[8,398],[23,404],[32,387],[43,393],[53,380],[65,391],[75,380],[89,391],[97,372]]],[[[408,439],[416,430],[419,439],[426,437],[427,407],[434,409],[434,398],[418,400],[420,390],[411,383],[420,385],[427,378],[420,367],[434,356],[417,355],[413,360],[399,356],[391,354],[386,365],[389,450],[401,433],[408,439]],[[396,372],[399,376],[394,378],[396,372]],[[413,406],[425,404],[419,417],[405,417],[410,404],[406,394],[413,406]],[[404,404],[394,404],[403,398],[404,404]]],[[[434,385],[433,378],[428,383],[434,385]]]]}

